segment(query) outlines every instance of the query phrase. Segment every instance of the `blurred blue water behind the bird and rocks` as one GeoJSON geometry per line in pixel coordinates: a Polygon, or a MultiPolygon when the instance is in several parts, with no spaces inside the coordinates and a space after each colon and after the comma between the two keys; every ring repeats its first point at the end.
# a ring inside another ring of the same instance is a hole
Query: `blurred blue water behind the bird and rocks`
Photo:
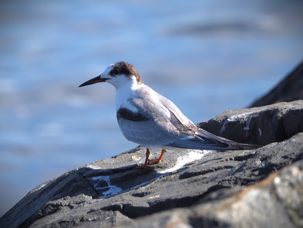
{"type": "Polygon", "coordinates": [[[44,181],[137,146],[115,88],[78,85],[123,60],[193,122],[245,108],[302,60],[302,3],[2,1],[0,216],[44,181]]]}

